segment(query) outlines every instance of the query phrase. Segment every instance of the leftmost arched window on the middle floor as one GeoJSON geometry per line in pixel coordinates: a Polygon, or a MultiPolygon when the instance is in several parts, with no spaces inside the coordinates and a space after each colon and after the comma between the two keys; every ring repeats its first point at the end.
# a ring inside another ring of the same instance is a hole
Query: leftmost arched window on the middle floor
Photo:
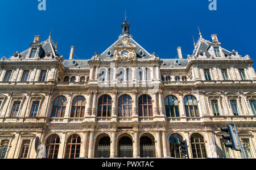
{"type": "Polygon", "coordinates": [[[57,97],[53,102],[51,118],[63,118],[65,115],[67,98],[64,96],[57,97]]]}

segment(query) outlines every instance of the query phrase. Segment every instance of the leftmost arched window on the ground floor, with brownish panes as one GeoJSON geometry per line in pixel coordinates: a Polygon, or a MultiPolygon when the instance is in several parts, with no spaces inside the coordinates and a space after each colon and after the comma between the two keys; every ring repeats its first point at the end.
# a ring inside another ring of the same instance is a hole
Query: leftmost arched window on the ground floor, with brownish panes
{"type": "Polygon", "coordinates": [[[49,136],[46,140],[46,158],[57,159],[60,147],[60,137],[56,134],[49,136]]]}

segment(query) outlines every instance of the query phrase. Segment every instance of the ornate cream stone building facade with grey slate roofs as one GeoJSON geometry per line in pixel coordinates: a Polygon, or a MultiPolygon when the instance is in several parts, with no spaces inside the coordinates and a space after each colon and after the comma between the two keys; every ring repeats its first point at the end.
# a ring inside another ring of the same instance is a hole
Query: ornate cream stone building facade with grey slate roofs
{"type": "Polygon", "coordinates": [[[191,56],[159,59],[129,33],[90,60],[69,60],[51,39],[0,64],[2,158],[236,157],[220,127],[236,123],[256,155],[256,76],[248,55],[201,33],[191,56]],[[45,151],[45,152],[44,152],[45,151]]]}

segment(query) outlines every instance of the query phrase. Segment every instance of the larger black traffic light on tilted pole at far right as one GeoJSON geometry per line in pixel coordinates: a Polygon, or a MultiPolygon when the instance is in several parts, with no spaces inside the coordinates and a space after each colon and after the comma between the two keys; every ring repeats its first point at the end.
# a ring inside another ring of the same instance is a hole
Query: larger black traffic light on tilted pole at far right
{"type": "Polygon", "coordinates": [[[223,139],[230,141],[230,142],[226,142],[225,146],[228,148],[232,148],[232,150],[238,151],[237,142],[236,142],[236,138],[235,138],[235,135],[234,135],[234,132],[232,129],[232,125],[229,125],[226,127],[221,127],[221,131],[228,133],[226,135],[222,135],[223,139]]]}

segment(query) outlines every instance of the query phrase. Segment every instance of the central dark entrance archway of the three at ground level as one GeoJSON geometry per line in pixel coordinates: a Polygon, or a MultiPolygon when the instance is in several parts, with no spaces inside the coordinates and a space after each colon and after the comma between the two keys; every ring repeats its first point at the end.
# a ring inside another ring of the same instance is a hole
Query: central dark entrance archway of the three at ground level
{"type": "Polygon", "coordinates": [[[118,157],[133,157],[133,140],[123,136],[118,141],[118,157]]]}

